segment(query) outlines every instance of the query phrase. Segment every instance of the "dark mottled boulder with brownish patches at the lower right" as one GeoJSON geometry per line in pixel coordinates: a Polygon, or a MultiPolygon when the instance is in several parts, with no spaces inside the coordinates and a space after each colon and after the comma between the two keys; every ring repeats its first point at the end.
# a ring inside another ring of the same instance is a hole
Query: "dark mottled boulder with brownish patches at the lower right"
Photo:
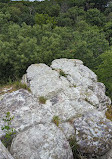
{"type": "Polygon", "coordinates": [[[87,112],[74,120],[74,126],[77,130],[76,139],[81,152],[95,157],[96,154],[103,156],[110,149],[112,122],[107,121],[102,112],[97,110],[87,112]]]}

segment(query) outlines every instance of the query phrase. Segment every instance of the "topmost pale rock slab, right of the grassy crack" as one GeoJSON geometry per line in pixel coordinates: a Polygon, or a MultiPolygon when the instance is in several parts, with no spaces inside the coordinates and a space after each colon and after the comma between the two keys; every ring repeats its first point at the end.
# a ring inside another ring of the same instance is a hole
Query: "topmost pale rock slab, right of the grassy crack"
{"type": "Polygon", "coordinates": [[[97,76],[80,60],[57,59],[52,62],[53,69],[61,69],[67,74],[67,79],[76,86],[91,86],[97,81],[97,76]]]}

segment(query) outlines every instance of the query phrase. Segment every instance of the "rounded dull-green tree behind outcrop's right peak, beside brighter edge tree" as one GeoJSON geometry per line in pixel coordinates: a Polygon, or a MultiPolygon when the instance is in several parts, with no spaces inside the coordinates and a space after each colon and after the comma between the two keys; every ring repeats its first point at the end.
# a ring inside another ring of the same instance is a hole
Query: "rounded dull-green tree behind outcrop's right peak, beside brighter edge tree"
{"type": "Polygon", "coordinates": [[[109,43],[97,27],[89,27],[86,24],[82,30],[78,29],[73,32],[69,53],[72,54],[72,58],[82,60],[86,66],[94,70],[98,65],[97,58],[109,48],[109,43]]]}

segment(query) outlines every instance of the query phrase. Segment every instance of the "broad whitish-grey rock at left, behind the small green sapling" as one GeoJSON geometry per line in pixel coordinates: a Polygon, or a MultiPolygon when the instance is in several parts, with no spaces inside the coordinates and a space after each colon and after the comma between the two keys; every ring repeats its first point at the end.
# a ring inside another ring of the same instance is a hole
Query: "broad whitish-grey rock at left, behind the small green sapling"
{"type": "MultiPolygon", "coordinates": [[[[31,93],[20,89],[6,94],[0,102],[0,127],[3,126],[3,118],[7,112],[14,116],[12,127],[16,131],[23,131],[37,123],[51,122],[53,114],[49,105],[43,107],[31,93]]],[[[0,137],[3,136],[0,128],[0,137]]]]}

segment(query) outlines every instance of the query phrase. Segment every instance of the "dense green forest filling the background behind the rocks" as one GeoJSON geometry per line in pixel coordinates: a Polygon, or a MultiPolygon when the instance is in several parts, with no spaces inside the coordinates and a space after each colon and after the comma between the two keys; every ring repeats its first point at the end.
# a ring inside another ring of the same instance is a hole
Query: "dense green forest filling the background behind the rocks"
{"type": "Polygon", "coordinates": [[[82,60],[112,98],[112,1],[0,0],[0,84],[57,58],[82,60]]]}

